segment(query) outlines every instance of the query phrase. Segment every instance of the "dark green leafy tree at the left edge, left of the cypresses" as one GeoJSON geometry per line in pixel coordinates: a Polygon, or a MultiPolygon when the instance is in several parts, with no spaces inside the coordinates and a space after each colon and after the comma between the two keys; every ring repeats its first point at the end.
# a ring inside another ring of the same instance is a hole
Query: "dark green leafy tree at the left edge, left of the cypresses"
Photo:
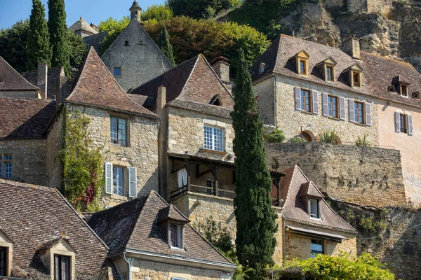
{"type": "Polygon", "coordinates": [[[18,72],[26,71],[26,46],[29,20],[16,22],[11,28],[0,30],[0,56],[18,72]]]}

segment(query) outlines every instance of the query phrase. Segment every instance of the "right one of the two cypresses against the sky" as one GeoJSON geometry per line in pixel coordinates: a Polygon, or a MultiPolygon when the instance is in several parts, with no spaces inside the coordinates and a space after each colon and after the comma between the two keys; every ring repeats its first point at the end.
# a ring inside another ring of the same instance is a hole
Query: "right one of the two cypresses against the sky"
{"type": "Polygon", "coordinates": [[[65,0],[48,0],[48,31],[53,50],[51,66],[63,66],[66,75],[70,76],[65,0]]]}

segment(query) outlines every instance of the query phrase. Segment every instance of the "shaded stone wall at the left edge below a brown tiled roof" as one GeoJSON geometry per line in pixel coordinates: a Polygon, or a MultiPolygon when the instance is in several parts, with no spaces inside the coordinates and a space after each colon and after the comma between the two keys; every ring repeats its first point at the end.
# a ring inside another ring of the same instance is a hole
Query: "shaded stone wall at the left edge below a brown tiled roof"
{"type": "Polygon", "coordinates": [[[5,154],[12,155],[13,178],[8,180],[47,185],[46,139],[0,140],[0,155],[5,154]]]}

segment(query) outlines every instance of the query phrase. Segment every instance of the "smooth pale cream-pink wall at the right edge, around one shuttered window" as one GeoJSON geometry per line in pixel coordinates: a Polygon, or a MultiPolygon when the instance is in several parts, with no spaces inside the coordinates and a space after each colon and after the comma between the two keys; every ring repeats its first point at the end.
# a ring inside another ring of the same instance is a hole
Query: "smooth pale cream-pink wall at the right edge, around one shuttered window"
{"type": "MultiPolygon", "coordinates": [[[[402,97],[404,98],[404,97],[402,97]]],[[[421,203],[421,109],[379,100],[379,144],[401,151],[403,183],[406,199],[421,203]],[[413,116],[413,135],[395,132],[394,112],[413,116]]]]}

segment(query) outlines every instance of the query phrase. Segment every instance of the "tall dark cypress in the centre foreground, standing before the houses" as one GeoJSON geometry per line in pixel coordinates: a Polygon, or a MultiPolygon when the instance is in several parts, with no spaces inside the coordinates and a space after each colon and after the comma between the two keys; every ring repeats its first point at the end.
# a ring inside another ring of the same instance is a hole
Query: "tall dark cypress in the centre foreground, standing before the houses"
{"type": "Polygon", "coordinates": [[[234,90],[234,153],[236,182],[236,250],[241,265],[254,269],[250,279],[259,279],[267,265],[273,265],[278,230],[272,209],[272,179],[267,169],[262,137],[263,122],[256,108],[248,64],[239,51],[239,69],[234,90]]]}

